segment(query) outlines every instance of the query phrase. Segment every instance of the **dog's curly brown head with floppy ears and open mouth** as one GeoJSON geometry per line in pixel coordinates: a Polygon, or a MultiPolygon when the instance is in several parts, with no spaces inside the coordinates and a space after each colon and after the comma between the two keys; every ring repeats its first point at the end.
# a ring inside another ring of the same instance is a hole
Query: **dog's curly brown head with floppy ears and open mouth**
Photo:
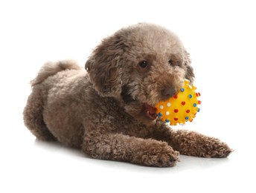
{"type": "Polygon", "coordinates": [[[154,24],[135,24],[103,39],[86,62],[95,90],[115,97],[128,114],[150,125],[156,102],[193,82],[191,59],[179,38],[154,24]]]}

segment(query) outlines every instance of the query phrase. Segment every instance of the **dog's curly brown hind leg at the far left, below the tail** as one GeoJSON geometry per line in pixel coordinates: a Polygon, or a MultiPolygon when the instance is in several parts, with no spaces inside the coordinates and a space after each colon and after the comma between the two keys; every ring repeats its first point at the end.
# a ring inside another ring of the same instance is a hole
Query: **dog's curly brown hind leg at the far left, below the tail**
{"type": "Polygon", "coordinates": [[[42,116],[43,100],[39,92],[33,91],[23,111],[25,125],[39,140],[56,140],[48,130],[42,116]]]}

